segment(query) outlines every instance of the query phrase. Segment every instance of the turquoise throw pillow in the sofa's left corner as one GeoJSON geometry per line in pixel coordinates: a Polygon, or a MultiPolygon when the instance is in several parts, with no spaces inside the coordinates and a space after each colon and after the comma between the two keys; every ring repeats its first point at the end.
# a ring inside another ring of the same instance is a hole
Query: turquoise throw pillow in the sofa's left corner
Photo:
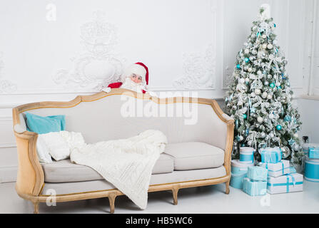
{"type": "Polygon", "coordinates": [[[26,113],[26,129],[38,133],[46,134],[65,130],[65,115],[40,116],[26,113]]]}

